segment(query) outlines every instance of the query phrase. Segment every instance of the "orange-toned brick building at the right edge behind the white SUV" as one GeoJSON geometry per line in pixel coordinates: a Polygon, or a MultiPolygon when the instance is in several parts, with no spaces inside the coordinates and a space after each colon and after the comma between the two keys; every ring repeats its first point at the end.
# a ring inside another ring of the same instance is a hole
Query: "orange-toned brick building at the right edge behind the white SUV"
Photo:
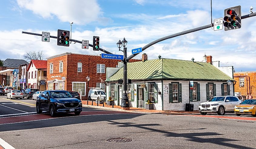
{"type": "Polygon", "coordinates": [[[256,71],[235,72],[235,92],[241,92],[242,96],[251,95],[256,98],[256,71]]]}

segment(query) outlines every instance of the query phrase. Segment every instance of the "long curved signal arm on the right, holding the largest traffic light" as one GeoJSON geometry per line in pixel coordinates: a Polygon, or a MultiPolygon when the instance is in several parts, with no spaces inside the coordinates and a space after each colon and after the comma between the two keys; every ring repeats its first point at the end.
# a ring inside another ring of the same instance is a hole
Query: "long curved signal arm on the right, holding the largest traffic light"
{"type": "MultiPolygon", "coordinates": [[[[254,17],[256,16],[256,13],[251,13],[251,14],[248,14],[248,15],[244,15],[244,16],[241,16],[241,19],[245,19],[245,18],[249,18],[249,17],[254,17]]],[[[213,24],[209,24],[209,25],[205,25],[205,26],[201,26],[201,27],[198,27],[198,28],[193,28],[193,29],[190,29],[190,30],[187,30],[187,31],[182,31],[182,32],[179,32],[179,33],[176,33],[176,34],[172,34],[172,35],[169,35],[169,36],[165,36],[165,37],[162,37],[162,38],[159,38],[155,41],[152,41],[151,43],[145,45],[143,48],[142,48],[142,51],[146,50],[148,47],[160,42],[160,41],[163,41],[163,40],[166,40],[166,39],[170,39],[170,38],[173,38],[173,37],[177,37],[177,36],[181,36],[181,35],[185,35],[185,34],[188,34],[188,33],[192,33],[192,32],[195,32],[195,31],[200,31],[200,30],[203,30],[203,29],[206,29],[206,28],[211,28],[213,27],[213,24]]],[[[133,57],[135,57],[136,55],[138,55],[139,53],[136,53],[136,54],[132,54],[130,55],[129,57],[127,57],[127,61],[131,60],[133,57]]]]}

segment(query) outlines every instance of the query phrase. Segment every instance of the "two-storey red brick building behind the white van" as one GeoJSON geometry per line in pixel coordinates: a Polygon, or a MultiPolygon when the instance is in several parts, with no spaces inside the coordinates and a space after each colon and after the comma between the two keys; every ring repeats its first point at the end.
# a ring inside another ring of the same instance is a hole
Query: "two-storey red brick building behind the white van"
{"type": "MultiPolygon", "coordinates": [[[[101,56],[76,53],[62,53],[47,59],[47,89],[61,89],[82,92],[82,99],[87,99],[87,87],[101,87],[106,80],[106,67],[116,67],[121,60],[103,59],[101,56]],[[87,86],[86,77],[91,79],[87,86]]],[[[135,62],[140,60],[130,60],[135,62]]]]}

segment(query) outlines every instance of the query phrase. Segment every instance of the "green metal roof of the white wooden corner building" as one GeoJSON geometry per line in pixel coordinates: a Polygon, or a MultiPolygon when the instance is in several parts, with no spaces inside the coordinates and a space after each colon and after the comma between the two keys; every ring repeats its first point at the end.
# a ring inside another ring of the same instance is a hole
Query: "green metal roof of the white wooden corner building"
{"type": "MultiPolygon", "coordinates": [[[[226,81],[229,79],[234,81],[234,79],[210,63],[164,58],[128,63],[127,78],[132,80],[194,79],[226,81]]],[[[118,79],[123,79],[123,68],[106,81],[117,81],[118,79]]]]}

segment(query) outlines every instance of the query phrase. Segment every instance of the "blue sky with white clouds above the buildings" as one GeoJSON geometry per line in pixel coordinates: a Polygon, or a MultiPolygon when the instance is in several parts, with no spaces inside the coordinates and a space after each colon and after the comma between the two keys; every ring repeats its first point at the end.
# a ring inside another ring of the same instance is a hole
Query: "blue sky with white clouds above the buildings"
{"type": "MultiPolygon", "coordinates": [[[[114,54],[116,43],[124,37],[127,56],[131,50],[181,31],[211,24],[210,0],[2,0],[0,8],[0,59],[24,59],[29,51],[43,51],[44,58],[60,53],[97,55],[101,51],[82,49],[80,43],[58,46],[57,39],[42,42],[41,36],[22,34],[22,31],[42,34],[57,30],[70,31],[71,39],[89,40],[100,37],[100,47],[114,54]]],[[[241,5],[241,15],[250,14],[255,0],[213,0],[213,19],[224,17],[224,9],[241,5]]],[[[254,10],[253,10],[254,11],[254,10]]],[[[255,8],[256,12],[256,8],[255,8]]],[[[220,66],[234,66],[236,72],[255,71],[256,16],[242,19],[241,28],[231,31],[213,28],[196,31],[161,41],[142,53],[148,59],[162,58],[203,61],[204,53],[220,61],[220,66]]],[[[141,59],[141,54],[135,59],[141,59]]]]}

